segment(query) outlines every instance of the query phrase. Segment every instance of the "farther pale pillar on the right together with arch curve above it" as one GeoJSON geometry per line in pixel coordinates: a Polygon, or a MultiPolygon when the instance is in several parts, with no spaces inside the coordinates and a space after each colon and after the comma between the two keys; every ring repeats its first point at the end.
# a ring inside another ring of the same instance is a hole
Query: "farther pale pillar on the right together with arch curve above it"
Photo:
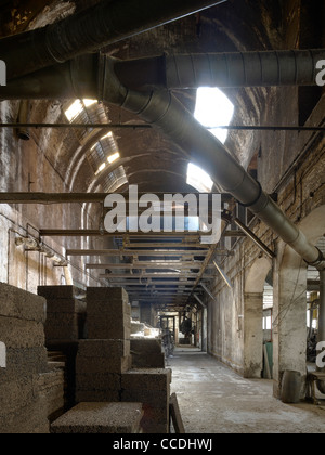
{"type": "Polygon", "coordinates": [[[272,261],[257,259],[245,280],[244,377],[260,378],[263,369],[263,291],[272,261]]]}

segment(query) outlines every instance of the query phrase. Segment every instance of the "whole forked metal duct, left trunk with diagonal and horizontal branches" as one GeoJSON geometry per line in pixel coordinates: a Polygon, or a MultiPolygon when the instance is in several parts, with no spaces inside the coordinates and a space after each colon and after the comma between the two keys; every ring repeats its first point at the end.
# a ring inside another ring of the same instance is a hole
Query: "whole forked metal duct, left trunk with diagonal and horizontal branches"
{"type": "MultiPolygon", "coordinates": [[[[282,83],[315,84],[315,62],[321,57],[325,58],[324,50],[268,52],[265,55],[248,53],[244,58],[243,53],[237,55],[232,53],[230,57],[223,54],[223,61],[235,62],[236,73],[230,77],[229,65],[221,66],[225,73],[223,76],[218,65],[209,65],[208,76],[206,76],[207,62],[213,61],[213,56],[206,55],[206,57],[196,58],[197,65],[193,72],[193,75],[202,76],[192,77],[191,81],[190,74],[187,83],[183,83],[185,86],[190,83],[193,87],[193,84],[202,83],[202,78],[206,81],[208,78],[210,83],[214,83],[216,75],[212,70],[214,68],[218,73],[218,80],[224,80],[226,87],[230,84],[235,87],[240,84],[245,87],[282,83]],[[202,66],[198,64],[199,61],[202,61],[202,66]],[[239,67],[240,62],[242,68],[239,67]],[[252,62],[255,67],[258,65],[259,70],[249,73],[247,70],[249,62],[252,62]],[[286,72],[283,68],[287,68],[286,72]],[[245,75],[244,79],[243,75],[245,75]]],[[[171,61],[178,62],[177,72],[171,70],[171,74],[181,75],[186,73],[182,65],[184,64],[187,68],[188,62],[194,62],[195,58],[181,56],[171,57],[171,61]]],[[[148,61],[145,60],[146,65],[148,61]]],[[[134,62],[130,64],[134,64],[134,62]]],[[[123,65],[128,65],[128,63],[123,64],[103,55],[86,55],[9,82],[8,87],[0,89],[0,96],[2,99],[92,98],[136,114],[180,146],[187,154],[188,160],[209,170],[214,183],[264,221],[306,262],[320,270],[324,269],[323,253],[308,242],[304,234],[262,191],[259,182],[246,172],[226,147],[203,127],[168,89],[158,87],[156,90],[135,91],[127,88],[117,75],[123,65]]],[[[138,70],[136,74],[140,73],[138,70]]],[[[168,65],[166,65],[165,74],[169,74],[168,65]]],[[[174,80],[174,77],[166,77],[166,81],[168,80],[174,80]]],[[[147,80],[147,84],[152,86],[150,80],[147,80]]],[[[168,86],[168,82],[166,84],[168,86]]],[[[171,84],[174,86],[176,82],[171,84]]]]}

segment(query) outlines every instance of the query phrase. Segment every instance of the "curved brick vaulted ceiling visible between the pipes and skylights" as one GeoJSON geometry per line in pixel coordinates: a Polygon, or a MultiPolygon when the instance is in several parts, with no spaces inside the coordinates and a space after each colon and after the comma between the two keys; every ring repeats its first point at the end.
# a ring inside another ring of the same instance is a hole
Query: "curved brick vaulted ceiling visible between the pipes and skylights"
{"type": "MultiPolygon", "coordinates": [[[[1,2],[0,32],[2,36],[9,36],[44,26],[95,3],[96,0],[77,2],[4,0],[1,2]]],[[[281,46],[283,27],[286,25],[280,14],[283,10],[282,3],[229,0],[204,13],[158,27],[102,51],[119,58],[135,58],[164,52],[202,53],[275,49],[281,46]]],[[[284,12],[284,17],[286,16],[284,12]]],[[[229,90],[226,94],[236,107],[234,123],[259,125],[268,95],[265,89],[229,90]]],[[[195,92],[179,91],[178,95],[190,109],[194,109],[195,92]]],[[[67,100],[66,103],[55,100],[32,102],[29,120],[65,122],[67,119],[64,112],[72,102],[73,100],[67,100]]],[[[91,116],[89,122],[139,122],[136,118],[116,107],[101,106],[101,112],[105,113],[106,118],[103,115],[100,119],[91,116]]],[[[107,129],[103,131],[49,129],[32,131],[32,135],[62,176],[66,188],[86,192],[89,188],[100,188],[103,182],[106,182],[107,176],[117,167],[117,164],[112,164],[95,176],[87,159],[91,147],[105,132],[107,129]]],[[[168,140],[153,130],[142,129],[116,129],[114,136],[120,153],[120,164],[125,168],[129,183],[138,183],[142,191],[165,191],[167,187],[172,191],[188,191],[185,182],[186,159],[168,140]]],[[[245,166],[251,162],[258,144],[257,133],[230,134],[229,148],[245,166]]],[[[105,184],[107,185],[107,182],[105,184]]]]}

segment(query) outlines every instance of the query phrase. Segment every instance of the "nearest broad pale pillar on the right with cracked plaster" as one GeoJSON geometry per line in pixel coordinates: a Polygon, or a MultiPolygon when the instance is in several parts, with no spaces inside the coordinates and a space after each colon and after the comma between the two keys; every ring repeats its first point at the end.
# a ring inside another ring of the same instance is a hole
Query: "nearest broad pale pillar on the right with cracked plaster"
{"type": "Polygon", "coordinates": [[[306,377],[307,266],[292,251],[274,270],[273,377],[274,396],[281,398],[286,369],[306,377]]]}

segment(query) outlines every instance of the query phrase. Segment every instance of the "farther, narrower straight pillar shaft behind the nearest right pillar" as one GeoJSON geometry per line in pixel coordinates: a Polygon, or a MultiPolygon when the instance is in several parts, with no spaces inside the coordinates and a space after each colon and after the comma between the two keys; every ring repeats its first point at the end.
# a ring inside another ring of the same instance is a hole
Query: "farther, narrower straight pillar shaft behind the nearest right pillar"
{"type": "Polygon", "coordinates": [[[263,369],[263,294],[245,294],[244,377],[261,378],[263,369]]]}

